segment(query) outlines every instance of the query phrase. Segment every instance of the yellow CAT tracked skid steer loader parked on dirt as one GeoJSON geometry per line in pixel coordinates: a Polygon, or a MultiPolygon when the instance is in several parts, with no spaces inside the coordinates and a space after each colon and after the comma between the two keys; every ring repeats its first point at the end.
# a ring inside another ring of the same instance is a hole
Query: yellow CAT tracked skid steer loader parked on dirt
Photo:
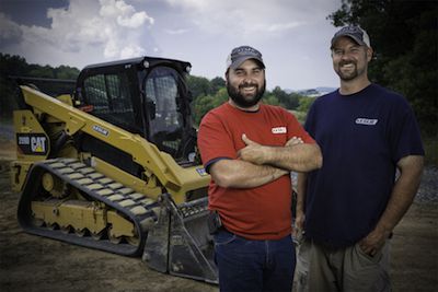
{"type": "Polygon", "coordinates": [[[57,96],[21,80],[11,179],[23,230],[217,283],[189,69],[151,57],[88,66],[57,96]]]}

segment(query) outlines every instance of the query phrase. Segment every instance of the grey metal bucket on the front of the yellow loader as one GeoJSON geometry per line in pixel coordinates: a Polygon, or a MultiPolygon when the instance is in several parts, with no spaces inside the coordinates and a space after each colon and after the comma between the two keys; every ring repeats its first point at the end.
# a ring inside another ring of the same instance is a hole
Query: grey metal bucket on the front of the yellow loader
{"type": "Polygon", "coordinates": [[[176,206],[169,194],[163,194],[160,201],[160,215],[149,231],[142,259],[161,272],[218,283],[207,225],[208,199],[176,206]]]}

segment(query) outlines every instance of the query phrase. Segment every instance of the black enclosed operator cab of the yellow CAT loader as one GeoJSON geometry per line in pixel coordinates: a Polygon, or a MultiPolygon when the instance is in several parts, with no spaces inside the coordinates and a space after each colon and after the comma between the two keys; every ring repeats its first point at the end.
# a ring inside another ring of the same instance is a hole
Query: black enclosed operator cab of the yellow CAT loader
{"type": "MultiPolygon", "coordinates": [[[[76,100],[82,110],[142,136],[186,164],[196,145],[185,84],[189,69],[188,62],[150,57],[88,66],[78,77],[76,100]]],[[[82,144],[92,153],[104,147],[87,138],[82,144]]]]}

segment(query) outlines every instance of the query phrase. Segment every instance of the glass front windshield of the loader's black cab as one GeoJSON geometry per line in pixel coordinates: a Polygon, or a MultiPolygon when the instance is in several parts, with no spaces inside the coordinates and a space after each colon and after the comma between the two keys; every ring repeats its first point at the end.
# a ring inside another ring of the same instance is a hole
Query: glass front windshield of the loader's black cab
{"type": "Polygon", "coordinates": [[[184,119],[180,112],[182,96],[178,73],[169,67],[157,67],[146,79],[146,104],[149,113],[150,140],[161,151],[176,157],[183,138],[184,119]]]}

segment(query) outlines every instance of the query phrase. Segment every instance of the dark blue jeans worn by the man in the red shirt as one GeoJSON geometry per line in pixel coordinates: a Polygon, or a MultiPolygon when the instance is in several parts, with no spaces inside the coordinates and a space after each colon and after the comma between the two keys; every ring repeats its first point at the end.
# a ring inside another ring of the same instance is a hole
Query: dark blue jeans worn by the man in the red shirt
{"type": "Polygon", "coordinates": [[[215,259],[221,292],[292,291],[296,266],[290,235],[277,241],[251,241],[220,230],[215,259]]]}

